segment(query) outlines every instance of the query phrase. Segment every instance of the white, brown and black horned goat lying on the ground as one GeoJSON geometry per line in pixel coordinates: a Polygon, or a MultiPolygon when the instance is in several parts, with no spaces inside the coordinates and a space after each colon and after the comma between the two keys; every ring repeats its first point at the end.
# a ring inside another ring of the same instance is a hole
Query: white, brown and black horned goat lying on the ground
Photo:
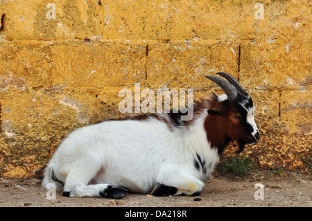
{"type": "Polygon", "coordinates": [[[181,112],[103,121],[71,132],[53,154],[42,185],[67,197],[125,197],[131,193],[199,195],[229,141],[259,141],[252,98],[228,73],[206,76],[225,94],[212,94],[181,112]]]}

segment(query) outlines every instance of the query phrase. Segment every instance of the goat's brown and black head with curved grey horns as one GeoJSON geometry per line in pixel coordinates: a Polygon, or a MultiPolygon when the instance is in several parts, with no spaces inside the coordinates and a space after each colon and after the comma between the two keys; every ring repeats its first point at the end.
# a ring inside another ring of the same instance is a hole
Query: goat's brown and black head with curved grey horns
{"type": "Polygon", "coordinates": [[[254,122],[252,98],[233,76],[223,72],[217,74],[226,80],[216,76],[206,78],[220,86],[227,98],[218,100],[211,109],[208,109],[208,114],[222,125],[227,139],[239,142],[237,152],[241,152],[246,143],[254,145],[260,139],[259,130],[254,122]]]}

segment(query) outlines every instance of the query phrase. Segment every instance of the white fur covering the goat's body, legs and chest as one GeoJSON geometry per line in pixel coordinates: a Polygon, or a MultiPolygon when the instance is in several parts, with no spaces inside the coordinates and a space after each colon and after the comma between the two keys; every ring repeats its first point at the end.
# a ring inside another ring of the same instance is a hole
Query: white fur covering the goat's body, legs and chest
{"type": "Polygon", "coordinates": [[[42,185],[56,184],[51,179],[53,169],[73,197],[99,196],[108,185],[148,193],[155,184],[164,184],[175,186],[175,195],[197,193],[218,163],[218,151],[210,148],[203,127],[206,116],[207,110],[189,127],[169,127],[150,117],[80,128],[55,151],[42,185]],[[196,154],[207,163],[205,175],[193,165],[196,154]]]}

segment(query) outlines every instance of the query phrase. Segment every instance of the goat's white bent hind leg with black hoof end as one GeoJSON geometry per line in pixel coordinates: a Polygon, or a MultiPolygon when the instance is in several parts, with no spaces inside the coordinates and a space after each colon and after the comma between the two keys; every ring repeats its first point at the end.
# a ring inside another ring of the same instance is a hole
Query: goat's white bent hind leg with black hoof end
{"type": "Polygon", "coordinates": [[[96,177],[101,166],[94,165],[90,159],[75,163],[67,175],[63,195],[66,197],[109,197],[118,199],[127,196],[127,190],[110,184],[89,184],[96,177]]]}

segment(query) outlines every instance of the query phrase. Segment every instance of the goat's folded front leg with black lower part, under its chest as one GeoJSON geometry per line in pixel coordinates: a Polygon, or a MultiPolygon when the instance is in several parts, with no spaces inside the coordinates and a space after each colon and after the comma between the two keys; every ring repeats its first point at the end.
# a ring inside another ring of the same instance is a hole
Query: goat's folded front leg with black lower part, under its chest
{"type": "Polygon", "coordinates": [[[199,195],[202,187],[205,185],[196,177],[191,175],[185,176],[183,179],[177,178],[167,180],[163,183],[158,183],[150,190],[151,195],[164,196],[164,195],[199,195]]]}

